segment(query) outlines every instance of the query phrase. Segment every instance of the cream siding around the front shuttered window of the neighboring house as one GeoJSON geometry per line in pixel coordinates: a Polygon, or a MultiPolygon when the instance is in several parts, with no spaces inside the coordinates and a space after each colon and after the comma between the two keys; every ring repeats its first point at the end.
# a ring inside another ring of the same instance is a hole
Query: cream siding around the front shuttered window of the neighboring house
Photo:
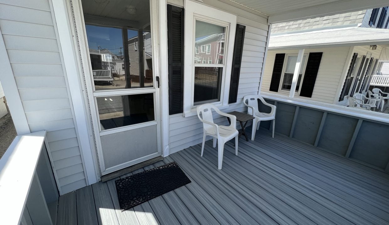
{"type": "MultiPolygon", "coordinates": [[[[337,48],[312,48],[305,49],[305,53],[310,52],[323,52],[319,71],[317,72],[317,78],[314,86],[314,90],[311,98],[302,97],[298,94],[295,98],[304,98],[309,100],[321,101],[326,103],[333,103],[336,98],[336,91],[342,77],[343,68],[347,61],[347,55],[350,47],[337,47],[337,48]]],[[[266,58],[265,72],[263,74],[261,92],[266,94],[283,94],[289,96],[289,91],[269,91],[270,81],[272,79],[273,65],[275,54],[298,54],[298,50],[269,50],[266,58]]],[[[282,82],[282,81],[281,81],[282,82]]]]}

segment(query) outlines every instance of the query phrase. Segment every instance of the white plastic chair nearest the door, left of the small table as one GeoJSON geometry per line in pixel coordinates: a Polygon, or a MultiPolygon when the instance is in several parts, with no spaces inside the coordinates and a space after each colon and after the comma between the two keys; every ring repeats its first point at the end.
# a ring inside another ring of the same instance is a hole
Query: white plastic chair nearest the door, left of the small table
{"type": "Polygon", "coordinates": [[[201,146],[201,156],[204,152],[205,137],[214,137],[214,148],[216,147],[217,139],[217,168],[221,170],[223,163],[224,144],[235,137],[235,155],[238,155],[238,130],[237,117],[221,112],[216,106],[211,103],[197,106],[197,116],[203,122],[203,144],[201,146]],[[229,126],[217,125],[212,117],[212,109],[219,115],[229,117],[231,124],[229,126]]]}

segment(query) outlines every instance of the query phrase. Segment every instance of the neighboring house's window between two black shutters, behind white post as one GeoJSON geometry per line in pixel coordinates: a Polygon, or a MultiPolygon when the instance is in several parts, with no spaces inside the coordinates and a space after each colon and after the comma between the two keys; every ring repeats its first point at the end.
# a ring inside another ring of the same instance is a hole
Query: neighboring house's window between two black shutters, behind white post
{"type": "MultiPolygon", "coordinates": [[[[306,61],[307,61],[307,55],[304,55],[303,62],[302,62],[301,67],[300,67],[300,72],[298,74],[297,83],[296,83],[296,92],[298,92],[300,89],[300,84],[301,84],[301,80],[303,79],[306,61]]],[[[284,90],[284,91],[291,90],[294,68],[296,67],[296,62],[297,62],[297,55],[287,55],[286,66],[285,66],[285,70],[283,73],[284,76],[281,78],[281,80],[282,80],[281,87],[280,87],[281,90],[284,90]]]]}

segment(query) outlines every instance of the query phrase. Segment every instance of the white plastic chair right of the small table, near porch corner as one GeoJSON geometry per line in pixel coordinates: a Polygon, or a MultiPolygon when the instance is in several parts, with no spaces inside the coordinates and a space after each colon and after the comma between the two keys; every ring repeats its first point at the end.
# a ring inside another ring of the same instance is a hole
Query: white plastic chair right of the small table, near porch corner
{"type": "Polygon", "coordinates": [[[260,95],[254,95],[254,94],[245,95],[243,97],[243,103],[248,107],[247,113],[254,117],[254,119],[252,120],[251,140],[254,141],[255,132],[256,132],[256,130],[259,129],[259,124],[261,123],[261,121],[265,121],[265,120],[273,120],[273,135],[272,135],[272,137],[274,137],[276,106],[267,103],[260,95]],[[264,105],[270,106],[272,108],[272,111],[270,113],[259,112],[258,99],[261,100],[261,102],[264,105]]]}

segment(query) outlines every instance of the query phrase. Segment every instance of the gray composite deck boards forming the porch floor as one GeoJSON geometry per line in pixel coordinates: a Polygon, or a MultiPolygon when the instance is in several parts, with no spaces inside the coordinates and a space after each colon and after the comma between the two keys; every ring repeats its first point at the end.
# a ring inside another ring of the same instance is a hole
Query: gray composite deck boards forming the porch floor
{"type": "Polygon", "coordinates": [[[114,180],[65,194],[57,224],[389,224],[389,174],[262,130],[222,170],[207,141],[133,172],[176,161],[192,182],[128,211],[114,180]]]}

